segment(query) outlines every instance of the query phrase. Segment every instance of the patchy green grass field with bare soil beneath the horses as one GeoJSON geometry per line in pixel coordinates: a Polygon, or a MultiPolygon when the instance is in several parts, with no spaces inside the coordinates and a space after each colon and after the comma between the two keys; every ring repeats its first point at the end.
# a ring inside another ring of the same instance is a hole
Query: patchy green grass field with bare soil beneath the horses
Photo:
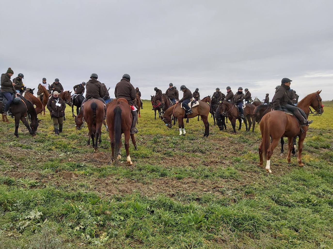
{"type": "MultiPolygon", "coordinates": [[[[98,153],[67,106],[54,136],[47,113],[35,137],[0,124],[0,248],[333,248],[333,103],[313,117],[297,158],[278,146],[273,174],[258,167],[259,125],[210,135],[196,119],[167,128],[144,101],[132,166],[98,153]]],[[[285,144],[285,150],[287,145],[285,144]]],[[[125,161],[123,161],[125,159],[125,161]]]]}

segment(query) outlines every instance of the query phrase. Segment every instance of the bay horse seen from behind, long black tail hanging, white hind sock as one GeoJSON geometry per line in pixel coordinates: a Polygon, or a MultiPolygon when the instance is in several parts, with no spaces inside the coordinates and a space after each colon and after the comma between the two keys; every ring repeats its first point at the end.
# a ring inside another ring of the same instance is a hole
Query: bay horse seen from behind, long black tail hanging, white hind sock
{"type": "Polygon", "coordinates": [[[117,159],[121,158],[122,133],[125,135],[126,161],[129,165],[133,162],[130,157],[130,137],[135,150],[137,144],[134,134],[130,134],[132,126],[132,110],[126,99],[119,98],[107,104],[107,124],[109,127],[109,136],[112,149],[111,161],[115,162],[115,151],[118,154],[117,159]]]}

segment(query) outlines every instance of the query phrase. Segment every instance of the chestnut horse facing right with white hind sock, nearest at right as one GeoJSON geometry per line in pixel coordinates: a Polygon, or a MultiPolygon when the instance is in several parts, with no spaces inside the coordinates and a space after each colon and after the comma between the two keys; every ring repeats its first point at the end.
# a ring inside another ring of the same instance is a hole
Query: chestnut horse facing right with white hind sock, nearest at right
{"type": "MultiPolygon", "coordinates": [[[[298,102],[297,107],[302,109],[305,114],[309,115],[309,107],[311,106],[317,115],[322,115],[324,112],[324,106],[321,102],[320,91],[311,93],[305,96],[300,102],[298,102]]],[[[261,131],[261,143],[259,145],[259,157],[260,162],[259,166],[263,165],[263,159],[266,160],[266,171],[272,173],[270,169],[270,158],[273,154],[273,150],[279,142],[279,139],[282,136],[288,137],[288,156],[287,161],[291,163],[290,152],[292,149],[293,137],[299,136],[298,139],[298,155],[297,161],[300,167],[303,167],[304,164],[301,160],[303,142],[306,136],[306,132],[309,126],[301,126],[298,120],[292,116],[287,115],[282,111],[272,111],[267,113],[262,117],[260,122],[260,131],[261,131]],[[272,139],[272,142],[270,142],[272,139]]]]}

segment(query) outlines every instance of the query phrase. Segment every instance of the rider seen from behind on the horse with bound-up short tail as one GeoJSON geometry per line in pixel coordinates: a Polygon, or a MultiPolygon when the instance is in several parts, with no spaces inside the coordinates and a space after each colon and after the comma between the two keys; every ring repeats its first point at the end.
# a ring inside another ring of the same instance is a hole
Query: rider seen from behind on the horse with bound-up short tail
{"type": "Polygon", "coordinates": [[[104,119],[106,119],[106,103],[103,99],[104,97],[104,90],[101,82],[98,80],[98,75],[96,73],[92,73],[90,75],[90,80],[87,82],[86,86],[86,98],[82,101],[81,105],[81,112],[83,112],[83,106],[84,103],[89,99],[98,99],[104,103],[104,110],[105,110],[105,116],[104,119]]]}

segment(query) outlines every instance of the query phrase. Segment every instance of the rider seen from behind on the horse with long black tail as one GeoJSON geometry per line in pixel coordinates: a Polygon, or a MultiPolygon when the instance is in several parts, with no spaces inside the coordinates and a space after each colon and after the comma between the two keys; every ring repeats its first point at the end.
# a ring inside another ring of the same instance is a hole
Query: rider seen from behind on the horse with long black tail
{"type": "Polygon", "coordinates": [[[138,133],[138,129],[135,127],[138,120],[138,113],[134,108],[134,101],[136,98],[136,91],[134,86],[130,82],[131,76],[125,73],[120,82],[117,83],[115,88],[115,96],[116,98],[124,98],[127,100],[128,104],[131,106],[132,110],[132,126],[131,126],[131,134],[138,133]]]}

